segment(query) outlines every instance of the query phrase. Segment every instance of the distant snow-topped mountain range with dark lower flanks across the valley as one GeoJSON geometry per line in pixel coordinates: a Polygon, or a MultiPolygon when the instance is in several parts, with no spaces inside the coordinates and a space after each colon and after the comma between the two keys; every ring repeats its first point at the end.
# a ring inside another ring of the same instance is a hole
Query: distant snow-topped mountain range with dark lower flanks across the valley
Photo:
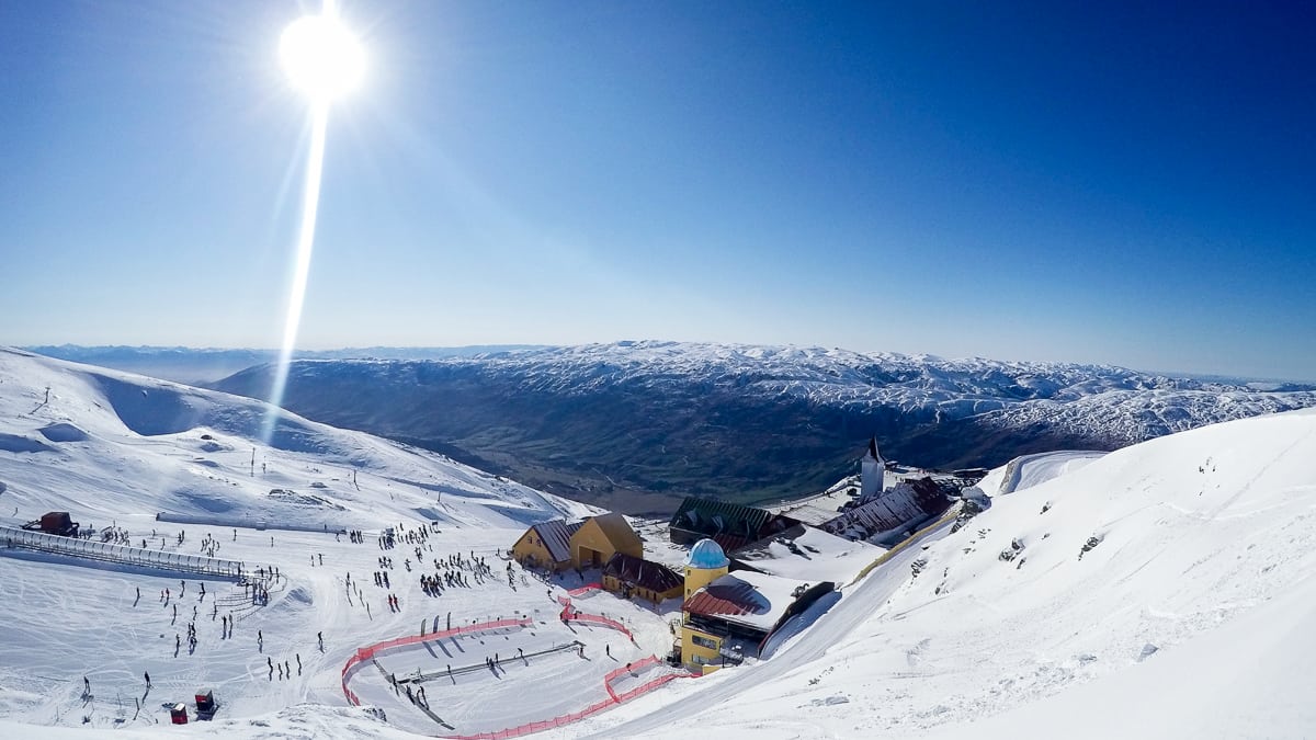
{"type": "MultiPolygon", "coordinates": [[[[262,398],[271,366],[215,387],[262,398]]],[[[428,361],[292,365],[284,406],[628,512],[687,494],[794,498],[850,473],[863,442],[929,467],[1111,450],[1316,406],[1316,387],[1123,367],[682,342],[428,361]]]]}

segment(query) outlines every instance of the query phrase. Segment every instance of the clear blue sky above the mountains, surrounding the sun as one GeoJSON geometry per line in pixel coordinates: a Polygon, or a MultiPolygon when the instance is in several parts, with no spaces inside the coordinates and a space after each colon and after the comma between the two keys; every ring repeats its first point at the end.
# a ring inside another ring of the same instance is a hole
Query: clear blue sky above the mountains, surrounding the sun
{"type": "MultiPolygon", "coordinates": [[[[299,345],[1316,379],[1312,11],[1059,5],[342,0],[299,345]]],[[[0,4],[0,342],[279,344],[313,8],[0,4]]]]}

